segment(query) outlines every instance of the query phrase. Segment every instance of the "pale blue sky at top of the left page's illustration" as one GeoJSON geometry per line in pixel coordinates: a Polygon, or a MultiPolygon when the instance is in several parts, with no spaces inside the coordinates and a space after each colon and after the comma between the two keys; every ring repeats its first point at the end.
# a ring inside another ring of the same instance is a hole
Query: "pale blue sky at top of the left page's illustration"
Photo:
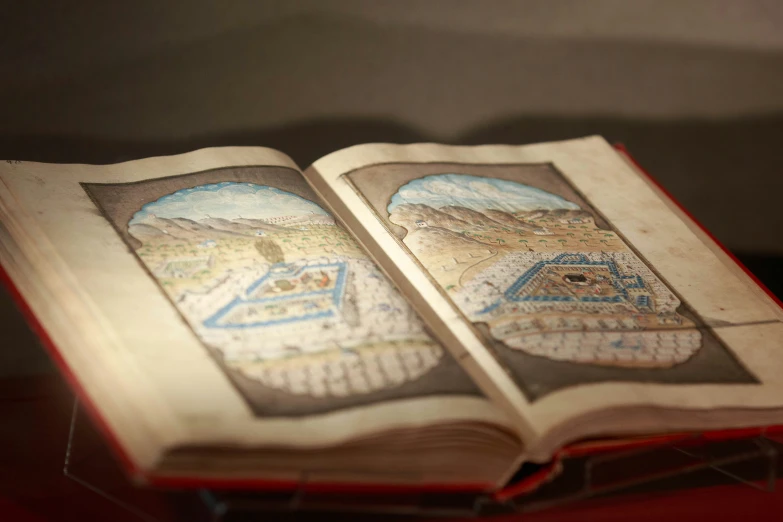
{"type": "Polygon", "coordinates": [[[150,214],[194,221],[207,217],[264,219],[275,216],[328,215],[312,201],[290,192],[236,182],[201,185],[163,196],[144,205],[133,215],[129,224],[140,223],[150,214]]]}

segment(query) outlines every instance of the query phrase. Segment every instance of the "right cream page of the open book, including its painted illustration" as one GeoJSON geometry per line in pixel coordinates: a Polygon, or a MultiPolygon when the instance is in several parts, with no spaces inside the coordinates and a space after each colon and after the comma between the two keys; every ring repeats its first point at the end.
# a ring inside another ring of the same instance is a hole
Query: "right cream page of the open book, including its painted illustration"
{"type": "Polygon", "coordinates": [[[780,308],[600,138],[357,146],[305,175],[530,440],[618,407],[783,404],[780,308]]]}

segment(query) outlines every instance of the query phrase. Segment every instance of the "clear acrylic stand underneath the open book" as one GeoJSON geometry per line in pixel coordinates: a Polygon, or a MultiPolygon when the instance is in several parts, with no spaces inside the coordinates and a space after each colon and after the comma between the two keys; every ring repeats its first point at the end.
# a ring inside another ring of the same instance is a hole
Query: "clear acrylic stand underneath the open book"
{"type": "Polygon", "coordinates": [[[403,516],[475,517],[526,513],[598,496],[741,483],[773,491],[778,475],[778,441],[753,437],[689,445],[682,441],[608,454],[568,459],[557,478],[535,492],[498,502],[475,494],[324,494],[303,484],[293,492],[161,492],[134,488],[122,475],[90,421],[74,402],[64,474],[131,518],[229,522],[261,519],[263,514],[340,513],[341,520],[403,516]],[[109,478],[107,479],[107,476],[109,478]]]}

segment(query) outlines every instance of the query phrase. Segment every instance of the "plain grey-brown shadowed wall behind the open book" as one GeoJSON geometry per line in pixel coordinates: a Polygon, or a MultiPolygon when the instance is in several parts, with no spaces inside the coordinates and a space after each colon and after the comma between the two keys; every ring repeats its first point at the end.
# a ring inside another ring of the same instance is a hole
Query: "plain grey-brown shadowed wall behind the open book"
{"type": "MultiPolygon", "coordinates": [[[[5,4],[0,158],[266,145],[305,166],[368,141],[598,133],[730,248],[783,254],[783,2],[5,4]]],[[[25,345],[14,314],[3,300],[25,345]]],[[[0,350],[0,373],[29,357],[0,350]]]]}

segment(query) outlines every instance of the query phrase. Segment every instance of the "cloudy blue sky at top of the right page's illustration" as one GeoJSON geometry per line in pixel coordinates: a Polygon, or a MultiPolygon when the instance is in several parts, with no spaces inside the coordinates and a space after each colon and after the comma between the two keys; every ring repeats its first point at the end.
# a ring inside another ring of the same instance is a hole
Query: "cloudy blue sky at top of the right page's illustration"
{"type": "Polygon", "coordinates": [[[468,174],[434,174],[409,181],[392,196],[387,210],[391,213],[403,203],[419,203],[433,208],[455,205],[477,211],[493,209],[506,212],[579,209],[576,203],[528,185],[468,174]]]}

